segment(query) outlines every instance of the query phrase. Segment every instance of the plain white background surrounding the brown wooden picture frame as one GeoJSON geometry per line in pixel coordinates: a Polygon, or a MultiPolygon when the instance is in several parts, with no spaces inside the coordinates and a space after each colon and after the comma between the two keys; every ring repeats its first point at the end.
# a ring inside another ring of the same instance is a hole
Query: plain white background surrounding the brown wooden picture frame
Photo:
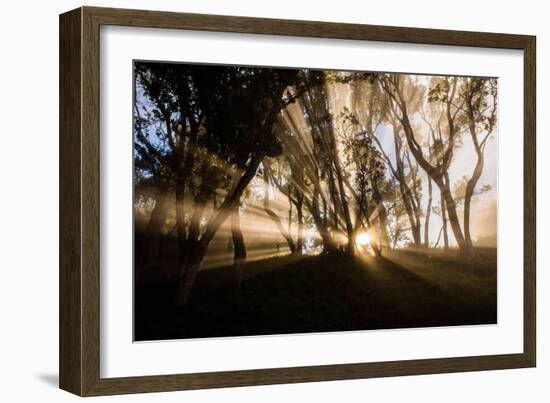
{"type": "MultiPolygon", "coordinates": [[[[460,0],[124,0],[87,5],[537,35],[538,367],[447,375],[104,397],[105,401],[281,402],[334,400],[545,402],[550,396],[545,267],[550,202],[550,28],[544,2],[460,0]],[[546,183],[545,183],[546,182],[546,183]],[[545,186],[546,185],[546,186],[545,186]]],[[[79,1],[5,2],[0,61],[0,400],[70,402],[58,365],[58,14],[79,1]]]]}

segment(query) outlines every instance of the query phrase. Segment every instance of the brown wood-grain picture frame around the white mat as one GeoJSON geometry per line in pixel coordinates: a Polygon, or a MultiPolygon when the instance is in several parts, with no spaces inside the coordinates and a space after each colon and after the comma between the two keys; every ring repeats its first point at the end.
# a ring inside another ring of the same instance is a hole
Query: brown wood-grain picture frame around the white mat
{"type": "Polygon", "coordinates": [[[533,367],[536,363],[535,37],[82,7],[60,16],[60,387],[80,396],[533,367]],[[291,35],[524,52],[524,349],[504,354],[101,378],[99,32],[101,25],[291,35]]]}

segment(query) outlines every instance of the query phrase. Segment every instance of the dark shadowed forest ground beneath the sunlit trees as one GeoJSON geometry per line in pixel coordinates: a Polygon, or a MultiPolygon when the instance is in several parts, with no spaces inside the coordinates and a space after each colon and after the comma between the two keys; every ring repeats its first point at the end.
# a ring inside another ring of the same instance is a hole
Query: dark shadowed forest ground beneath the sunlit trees
{"type": "Polygon", "coordinates": [[[285,256],[249,262],[235,292],[232,267],[200,271],[185,309],[176,278],[135,290],[135,340],[494,324],[496,249],[388,251],[383,258],[285,256]]]}

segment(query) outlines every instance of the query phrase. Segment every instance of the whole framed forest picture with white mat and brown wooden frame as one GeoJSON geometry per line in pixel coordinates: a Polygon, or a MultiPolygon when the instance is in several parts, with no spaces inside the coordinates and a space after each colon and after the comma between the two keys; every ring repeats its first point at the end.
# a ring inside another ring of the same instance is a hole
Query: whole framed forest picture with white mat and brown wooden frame
{"type": "Polygon", "coordinates": [[[533,367],[535,37],[60,16],[60,386],[533,367]]]}

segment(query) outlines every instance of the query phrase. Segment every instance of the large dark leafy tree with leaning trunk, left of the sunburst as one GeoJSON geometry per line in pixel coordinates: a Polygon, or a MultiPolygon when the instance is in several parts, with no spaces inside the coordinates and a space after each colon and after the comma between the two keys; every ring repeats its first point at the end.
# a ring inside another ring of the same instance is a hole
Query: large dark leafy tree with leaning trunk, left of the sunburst
{"type": "Polygon", "coordinates": [[[293,102],[287,87],[304,86],[302,73],[156,63],[138,63],[136,71],[140,99],[150,105],[151,116],[166,133],[166,142],[155,148],[173,156],[170,169],[175,174],[180,245],[178,301],[185,305],[217,230],[238,207],[264,157],[280,154],[273,127],[280,110],[293,102]],[[231,167],[240,175],[223,201],[215,208],[209,206],[231,167]]]}

